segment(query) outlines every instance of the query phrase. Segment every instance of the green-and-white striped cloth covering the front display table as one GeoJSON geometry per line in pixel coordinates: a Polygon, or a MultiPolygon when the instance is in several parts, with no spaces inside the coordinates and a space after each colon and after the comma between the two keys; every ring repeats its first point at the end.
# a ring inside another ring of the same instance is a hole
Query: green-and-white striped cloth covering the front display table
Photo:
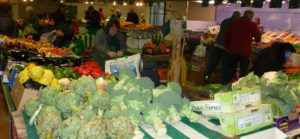
{"type": "MultiPolygon", "coordinates": [[[[8,108],[10,113],[15,111],[14,105],[11,101],[9,92],[10,88],[8,84],[3,84],[3,90],[5,94],[5,98],[7,101],[8,108]]],[[[29,117],[24,114],[24,123],[27,131],[28,139],[38,139],[38,136],[35,133],[34,125],[30,126],[28,121],[29,117]]],[[[183,118],[181,121],[170,123],[165,122],[167,127],[167,134],[164,136],[157,137],[158,139],[218,139],[220,137],[233,137],[222,130],[220,126],[220,122],[218,120],[206,119],[200,115],[201,118],[196,122],[192,123],[187,118],[183,118]]],[[[140,129],[145,133],[144,139],[151,139],[155,137],[154,129],[147,124],[141,124],[140,129]]],[[[247,133],[239,136],[241,139],[253,139],[253,138],[272,138],[272,139],[282,139],[288,138],[283,132],[279,131],[279,129],[268,126],[257,131],[247,133]]]]}

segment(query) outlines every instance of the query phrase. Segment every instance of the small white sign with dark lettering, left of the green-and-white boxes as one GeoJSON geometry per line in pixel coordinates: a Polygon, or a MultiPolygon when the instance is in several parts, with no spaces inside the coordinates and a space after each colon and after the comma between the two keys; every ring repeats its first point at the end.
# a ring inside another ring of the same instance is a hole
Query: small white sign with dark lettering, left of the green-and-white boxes
{"type": "Polygon", "coordinates": [[[193,101],[191,102],[190,109],[193,111],[211,111],[222,112],[221,102],[217,101],[193,101]]]}

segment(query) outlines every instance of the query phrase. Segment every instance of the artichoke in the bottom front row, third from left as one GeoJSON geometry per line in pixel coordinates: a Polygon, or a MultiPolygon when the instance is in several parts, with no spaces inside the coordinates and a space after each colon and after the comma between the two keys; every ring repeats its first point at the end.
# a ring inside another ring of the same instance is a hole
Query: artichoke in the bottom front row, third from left
{"type": "Polygon", "coordinates": [[[92,117],[79,129],[77,139],[107,139],[104,117],[92,117]]]}

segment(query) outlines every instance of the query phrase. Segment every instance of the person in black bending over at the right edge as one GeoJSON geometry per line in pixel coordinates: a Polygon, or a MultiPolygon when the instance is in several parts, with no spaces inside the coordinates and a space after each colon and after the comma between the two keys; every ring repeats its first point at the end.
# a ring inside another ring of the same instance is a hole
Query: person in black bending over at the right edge
{"type": "Polygon", "coordinates": [[[295,48],[290,43],[273,43],[271,47],[265,48],[259,53],[252,70],[257,76],[262,76],[269,71],[282,70],[291,53],[295,52],[295,48]]]}

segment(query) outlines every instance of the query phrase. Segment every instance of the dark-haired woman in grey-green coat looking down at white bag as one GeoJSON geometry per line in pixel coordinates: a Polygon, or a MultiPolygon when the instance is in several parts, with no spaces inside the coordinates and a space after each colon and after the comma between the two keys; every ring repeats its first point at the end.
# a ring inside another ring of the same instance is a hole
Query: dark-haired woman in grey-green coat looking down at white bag
{"type": "Polygon", "coordinates": [[[121,57],[126,51],[124,36],[118,32],[120,23],[116,20],[110,20],[107,26],[99,30],[96,34],[93,59],[97,61],[100,68],[105,70],[105,61],[114,57],[121,57]]]}

